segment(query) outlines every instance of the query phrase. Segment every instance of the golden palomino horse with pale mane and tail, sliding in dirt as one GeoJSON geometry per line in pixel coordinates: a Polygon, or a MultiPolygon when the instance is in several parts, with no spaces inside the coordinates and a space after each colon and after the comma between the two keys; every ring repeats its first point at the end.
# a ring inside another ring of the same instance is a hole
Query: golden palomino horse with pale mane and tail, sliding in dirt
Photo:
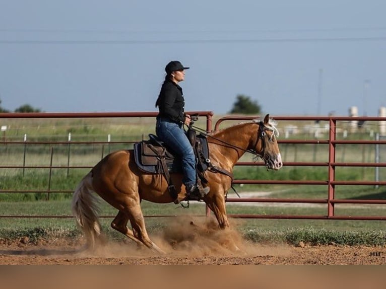
{"type": "MultiPolygon", "coordinates": [[[[219,171],[205,172],[210,192],[205,195],[204,201],[214,212],[220,228],[229,228],[225,196],[232,185],[231,176],[235,163],[245,152],[251,152],[263,159],[267,169],[279,170],[283,163],[277,136],[275,121],[268,114],[263,121],[239,123],[208,134],[210,162],[219,171]]],[[[178,191],[178,199],[183,200],[185,188],[181,181],[182,175],[171,174],[171,179],[178,191]]],[[[146,174],[137,168],[132,150],[120,150],[107,155],[82,179],[74,192],[73,214],[85,234],[89,248],[93,248],[101,240],[97,199],[92,192],[96,192],[118,210],[111,223],[113,229],[139,245],[163,253],[148,236],[141,200],[168,203],[173,202],[173,199],[164,178],[146,174]],[[132,230],[127,227],[128,221],[132,230]]]]}

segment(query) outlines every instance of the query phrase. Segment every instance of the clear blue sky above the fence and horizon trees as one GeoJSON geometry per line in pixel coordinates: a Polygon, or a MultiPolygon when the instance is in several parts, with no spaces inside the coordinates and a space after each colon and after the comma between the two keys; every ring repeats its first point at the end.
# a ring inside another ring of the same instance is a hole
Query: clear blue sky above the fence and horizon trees
{"type": "Polygon", "coordinates": [[[271,115],[376,116],[386,106],[383,0],[3,0],[0,99],[9,110],[156,111],[164,67],[186,110],[244,94],[271,115]]]}

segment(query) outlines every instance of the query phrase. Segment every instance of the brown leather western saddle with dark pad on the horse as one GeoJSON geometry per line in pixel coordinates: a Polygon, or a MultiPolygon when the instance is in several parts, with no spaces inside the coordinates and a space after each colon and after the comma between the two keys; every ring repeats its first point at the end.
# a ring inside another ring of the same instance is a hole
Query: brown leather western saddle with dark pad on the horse
{"type": "MultiPolygon", "coordinates": [[[[207,137],[201,133],[197,134],[193,128],[189,128],[186,134],[196,155],[198,180],[208,183],[204,176],[204,172],[210,166],[207,137]]],[[[178,203],[178,192],[171,182],[170,173],[182,173],[182,165],[173,151],[156,135],[149,134],[148,140],[134,143],[134,158],[138,168],[145,173],[162,174],[165,177],[170,195],[174,202],[178,203]]]]}

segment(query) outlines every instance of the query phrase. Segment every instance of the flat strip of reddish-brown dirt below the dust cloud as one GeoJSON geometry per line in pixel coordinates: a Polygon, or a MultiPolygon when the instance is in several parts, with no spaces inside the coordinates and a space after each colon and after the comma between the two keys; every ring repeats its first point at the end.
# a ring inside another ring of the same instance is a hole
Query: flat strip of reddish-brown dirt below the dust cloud
{"type": "Polygon", "coordinates": [[[126,244],[110,244],[98,252],[82,252],[78,246],[11,244],[0,249],[1,265],[119,264],[119,265],[258,265],[258,264],[386,264],[381,247],[248,245],[240,253],[176,251],[159,256],[126,244]]]}

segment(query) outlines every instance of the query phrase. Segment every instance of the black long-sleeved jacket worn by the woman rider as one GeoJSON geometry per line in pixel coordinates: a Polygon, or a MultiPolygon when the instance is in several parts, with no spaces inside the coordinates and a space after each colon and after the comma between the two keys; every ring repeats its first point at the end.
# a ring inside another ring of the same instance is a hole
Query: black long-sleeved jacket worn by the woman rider
{"type": "Polygon", "coordinates": [[[182,88],[171,80],[167,80],[163,83],[156,102],[156,107],[157,106],[159,108],[157,118],[168,118],[176,123],[185,120],[185,100],[183,98],[182,88]]]}

